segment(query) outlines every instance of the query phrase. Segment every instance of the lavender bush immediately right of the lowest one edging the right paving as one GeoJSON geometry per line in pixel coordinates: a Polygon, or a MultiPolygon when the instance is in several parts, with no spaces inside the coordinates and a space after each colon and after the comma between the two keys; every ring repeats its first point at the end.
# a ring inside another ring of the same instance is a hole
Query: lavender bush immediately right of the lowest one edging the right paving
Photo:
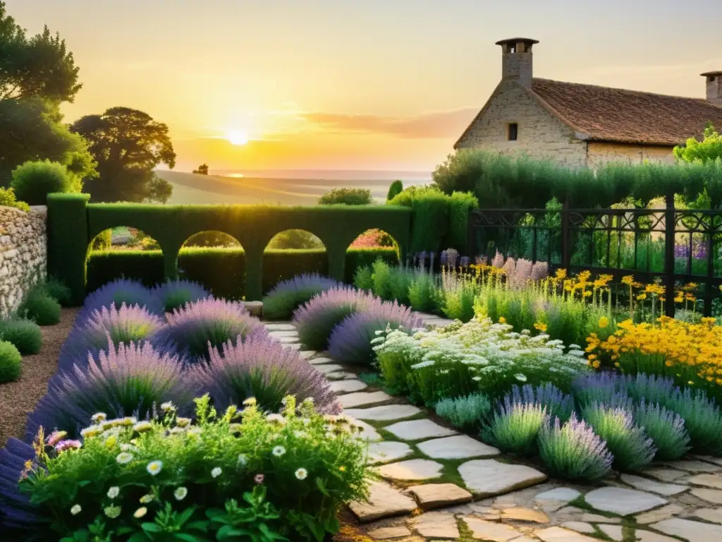
{"type": "Polygon", "coordinates": [[[653,460],[657,451],[654,442],[635,425],[627,408],[594,402],[583,408],[582,417],[606,441],[617,470],[639,470],[653,460]]]}

